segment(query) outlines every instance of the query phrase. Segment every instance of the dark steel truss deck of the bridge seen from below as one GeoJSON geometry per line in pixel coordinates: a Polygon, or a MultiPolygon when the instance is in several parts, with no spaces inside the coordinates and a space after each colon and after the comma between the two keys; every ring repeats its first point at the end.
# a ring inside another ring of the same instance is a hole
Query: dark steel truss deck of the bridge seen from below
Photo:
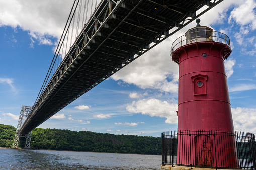
{"type": "Polygon", "coordinates": [[[31,109],[20,133],[30,133],[222,1],[102,0],[31,109]]]}

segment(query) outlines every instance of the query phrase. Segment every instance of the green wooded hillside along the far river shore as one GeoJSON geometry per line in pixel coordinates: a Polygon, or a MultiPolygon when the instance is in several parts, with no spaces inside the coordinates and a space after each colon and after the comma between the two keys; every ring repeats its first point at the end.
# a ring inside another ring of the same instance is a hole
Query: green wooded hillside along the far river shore
{"type": "MultiPolygon", "coordinates": [[[[12,147],[16,128],[0,124],[0,147],[12,147]]],[[[26,139],[20,138],[19,147],[26,139]]],[[[36,128],[32,131],[32,149],[72,150],[108,153],[161,154],[161,138],[114,135],[91,131],[36,128]]]]}

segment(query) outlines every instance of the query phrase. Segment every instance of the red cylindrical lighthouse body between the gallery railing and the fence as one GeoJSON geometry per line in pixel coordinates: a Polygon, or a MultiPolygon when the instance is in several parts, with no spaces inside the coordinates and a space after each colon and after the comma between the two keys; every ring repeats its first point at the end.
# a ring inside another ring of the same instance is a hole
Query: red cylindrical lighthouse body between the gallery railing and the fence
{"type": "Polygon", "coordinates": [[[224,67],[229,47],[208,41],[178,51],[178,130],[234,131],[224,67]]]}

